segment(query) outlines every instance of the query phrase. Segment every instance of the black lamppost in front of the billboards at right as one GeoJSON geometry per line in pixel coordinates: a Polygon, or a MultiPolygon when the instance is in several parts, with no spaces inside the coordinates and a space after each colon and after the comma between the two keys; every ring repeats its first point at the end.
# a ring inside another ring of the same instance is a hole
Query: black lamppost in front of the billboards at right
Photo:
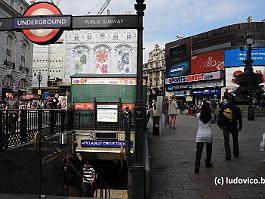
{"type": "Polygon", "coordinates": [[[248,95],[249,95],[249,106],[248,106],[248,120],[254,120],[254,106],[253,106],[253,67],[252,67],[252,44],[248,44],[247,59],[244,61],[246,66],[244,68],[244,73],[249,74],[249,85],[248,85],[248,95]]]}

